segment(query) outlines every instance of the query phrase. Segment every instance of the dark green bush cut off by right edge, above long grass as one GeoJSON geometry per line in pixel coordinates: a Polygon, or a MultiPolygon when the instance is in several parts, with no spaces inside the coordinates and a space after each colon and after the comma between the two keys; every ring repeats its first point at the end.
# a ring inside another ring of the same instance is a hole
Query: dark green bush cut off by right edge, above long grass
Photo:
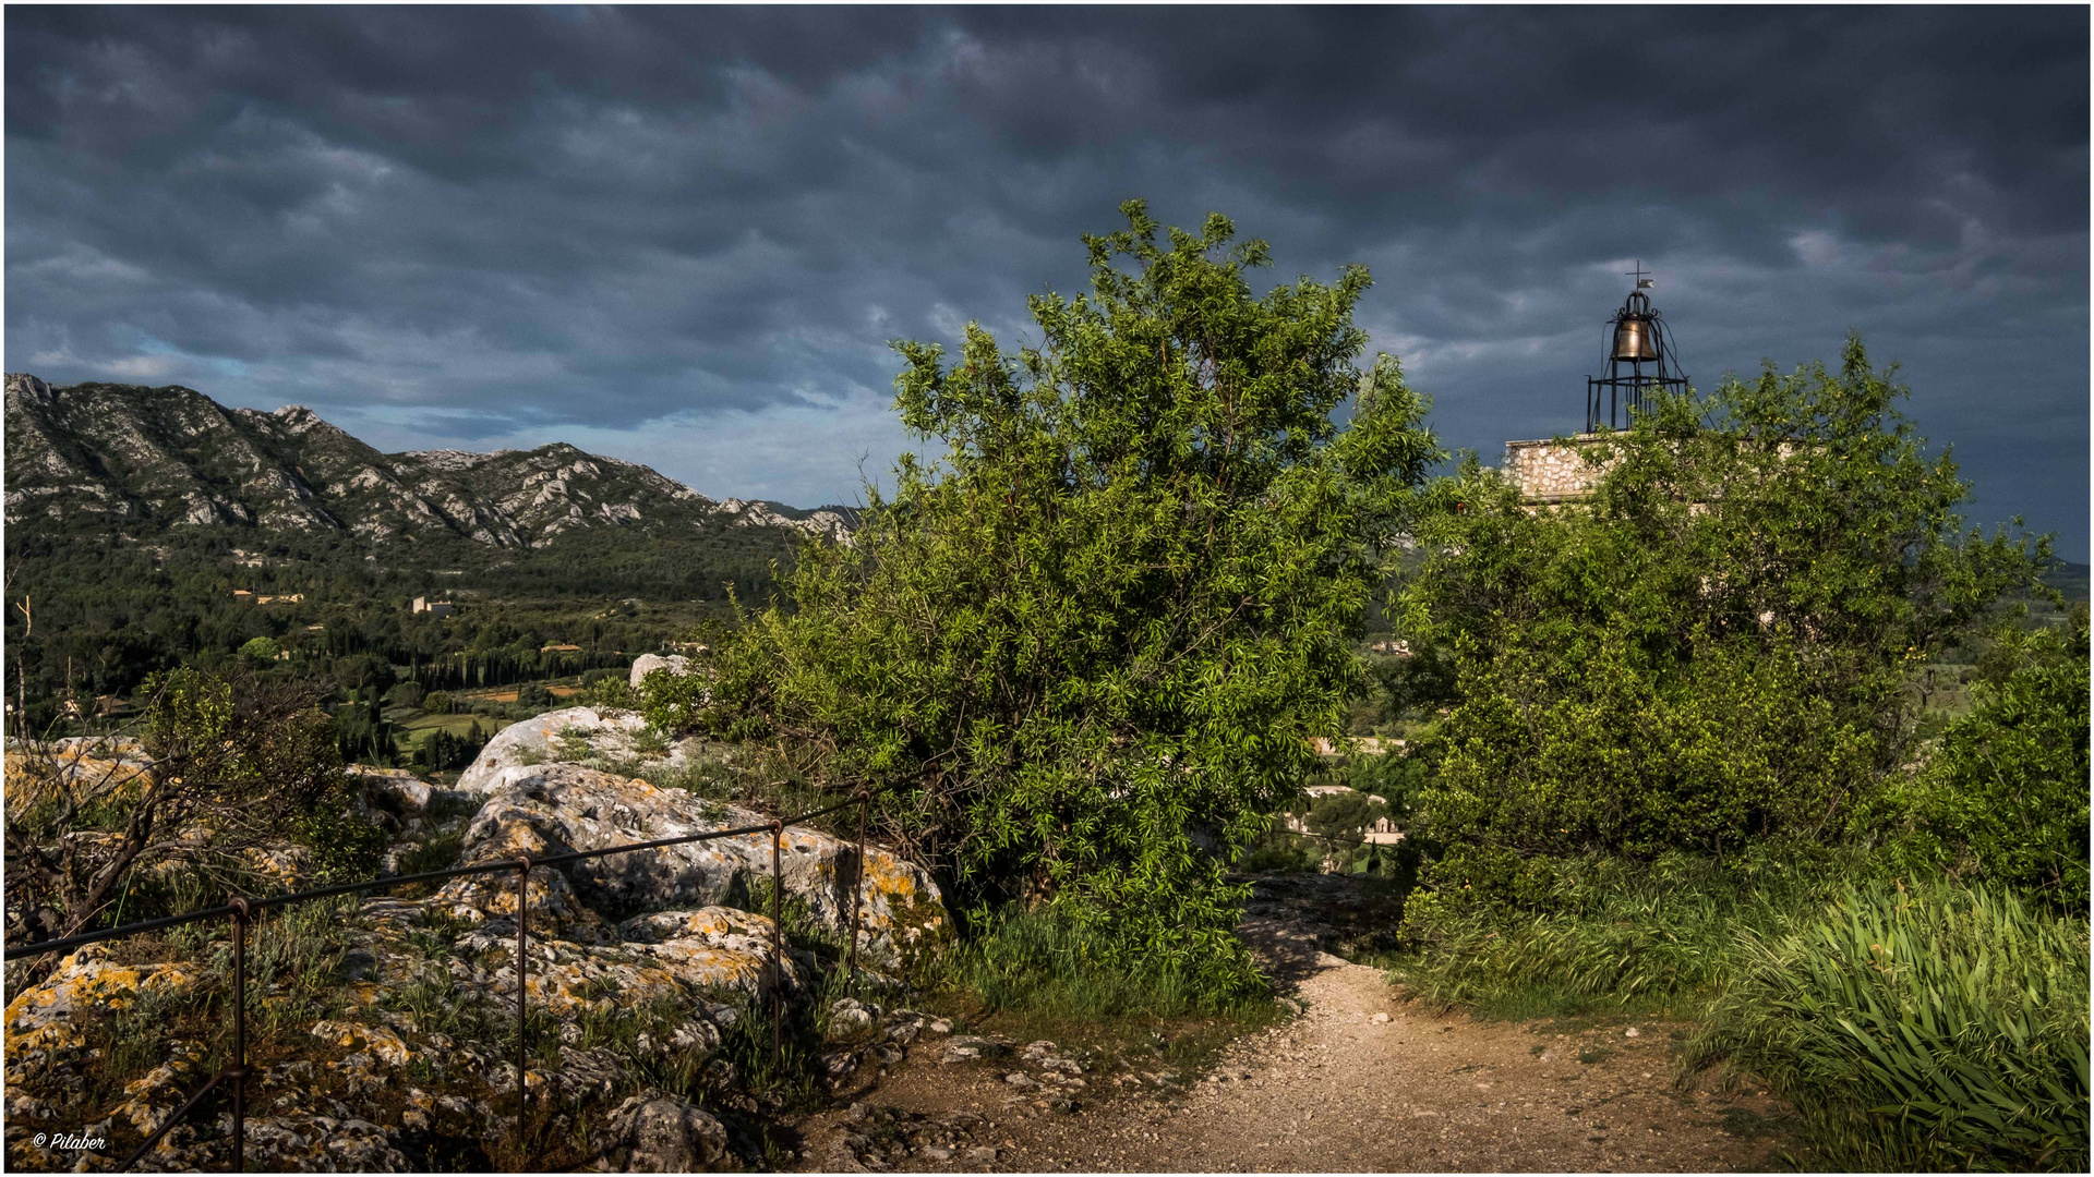
{"type": "Polygon", "coordinates": [[[2069,630],[2006,626],[1977,708],[1893,785],[1895,850],[2088,911],[2088,612],[2069,630]]]}

